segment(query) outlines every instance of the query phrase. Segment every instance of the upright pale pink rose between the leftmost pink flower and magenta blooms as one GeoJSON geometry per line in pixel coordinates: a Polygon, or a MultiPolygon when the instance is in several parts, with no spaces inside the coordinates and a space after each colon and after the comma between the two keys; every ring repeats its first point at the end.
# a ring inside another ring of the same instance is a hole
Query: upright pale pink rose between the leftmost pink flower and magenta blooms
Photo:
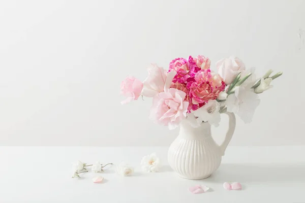
{"type": "Polygon", "coordinates": [[[170,87],[175,75],[175,71],[166,73],[163,67],[151,63],[148,67],[148,77],[143,82],[142,95],[154,97],[159,92],[165,91],[170,87]]]}

